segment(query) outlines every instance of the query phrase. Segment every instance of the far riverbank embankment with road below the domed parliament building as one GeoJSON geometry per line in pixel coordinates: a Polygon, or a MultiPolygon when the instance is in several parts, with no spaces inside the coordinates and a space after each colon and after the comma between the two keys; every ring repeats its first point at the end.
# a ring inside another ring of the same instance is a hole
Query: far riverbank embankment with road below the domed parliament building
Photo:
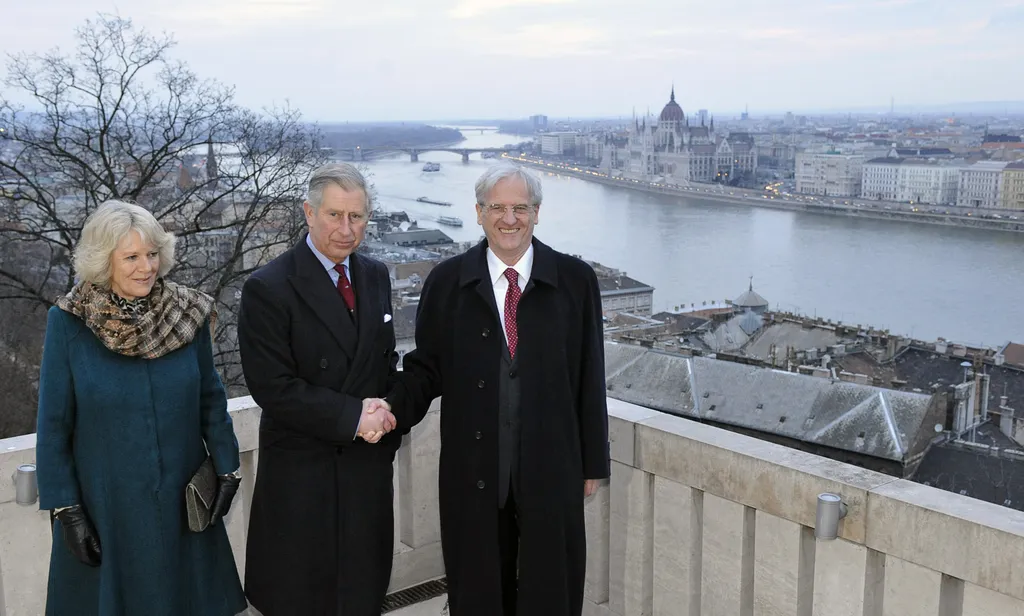
{"type": "MultiPolygon", "coordinates": [[[[769,195],[764,191],[751,190],[746,188],[724,187],[716,184],[696,184],[690,187],[672,186],[626,177],[610,177],[596,170],[568,166],[562,163],[550,163],[547,161],[526,159],[523,157],[508,158],[522,165],[548,171],[550,173],[558,173],[561,175],[575,177],[582,180],[587,180],[588,182],[596,182],[607,186],[616,186],[629,190],[640,190],[642,192],[653,192],[669,196],[697,197],[735,206],[768,208],[771,210],[787,210],[791,212],[808,212],[824,216],[896,220],[918,224],[956,226],[1024,233],[1024,220],[981,218],[973,215],[961,215],[954,213],[936,214],[925,210],[912,211],[893,207],[905,207],[905,204],[864,205],[851,202],[851,205],[826,205],[822,203],[807,203],[785,199],[780,195],[769,195]]],[[[1024,212],[1020,214],[1021,218],[1024,218],[1024,212]]]]}

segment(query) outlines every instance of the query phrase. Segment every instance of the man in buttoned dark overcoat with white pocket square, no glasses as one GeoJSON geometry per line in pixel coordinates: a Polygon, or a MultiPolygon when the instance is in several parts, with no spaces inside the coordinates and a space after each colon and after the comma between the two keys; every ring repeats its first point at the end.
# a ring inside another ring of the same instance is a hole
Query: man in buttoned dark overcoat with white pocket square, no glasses
{"type": "Polygon", "coordinates": [[[263,409],[246,595],[263,616],[379,616],[401,439],[372,399],[398,361],[391,284],[354,252],[370,215],[354,167],[313,172],[303,209],[309,233],[242,292],[242,367],[263,409]]]}

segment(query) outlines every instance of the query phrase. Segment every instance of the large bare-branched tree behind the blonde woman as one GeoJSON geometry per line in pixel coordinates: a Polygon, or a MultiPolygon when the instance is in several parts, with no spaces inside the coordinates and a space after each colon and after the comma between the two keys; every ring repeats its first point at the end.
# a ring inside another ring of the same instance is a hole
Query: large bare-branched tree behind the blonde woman
{"type": "Polygon", "coordinates": [[[229,386],[240,386],[237,292],[299,238],[305,180],[327,157],[319,132],[287,106],[240,107],[232,88],[171,58],[168,35],[104,14],[76,34],[70,55],[8,59],[0,91],[0,314],[42,318],[44,310],[26,306],[45,308],[74,285],[70,255],[85,218],[108,200],[137,203],[179,237],[171,277],[220,302],[219,366],[229,386]],[[10,302],[28,304],[15,315],[10,302]]]}

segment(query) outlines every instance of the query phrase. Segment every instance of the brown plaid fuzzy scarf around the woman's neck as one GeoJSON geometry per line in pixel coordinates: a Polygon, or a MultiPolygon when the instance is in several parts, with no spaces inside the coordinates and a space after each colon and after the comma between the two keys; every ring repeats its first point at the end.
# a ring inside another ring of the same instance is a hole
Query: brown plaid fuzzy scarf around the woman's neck
{"type": "Polygon", "coordinates": [[[129,357],[167,355],[190,343],[207,318],[212,332],[217,318],[212,297],[169,280],[157,280],[144,302],[116,301],[113,295],[79,282],[56,305],[85,321],[104,347],[129,357]]]}

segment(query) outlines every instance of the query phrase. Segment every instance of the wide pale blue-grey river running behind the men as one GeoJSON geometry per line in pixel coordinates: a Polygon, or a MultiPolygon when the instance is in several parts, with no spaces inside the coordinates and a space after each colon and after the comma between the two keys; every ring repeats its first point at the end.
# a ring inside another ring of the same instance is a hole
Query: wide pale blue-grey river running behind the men
{"type": "MultiPolygon", "coordinates": [[[[521,139],[463,130],[464,147],[521,139]]],[[[426,152],[367,163],[379,205],[456,240],[482,231],[473,183],[492,161],[426,152]],[[440,163],[424,173],[424,163],[440,163]],[[452,202],[451,208],[417,203],[452,202]],[[457,216],[462,228],[439,225],[457,216]]],[[[699,197],[670,197],[537,172],[544,184],[537,236],[654,287],[654,309],[721,302],[755,290],[773,309],[893,333],[988,346],[1024,342],[1024,234],[850,219],[699,197]]]]}

